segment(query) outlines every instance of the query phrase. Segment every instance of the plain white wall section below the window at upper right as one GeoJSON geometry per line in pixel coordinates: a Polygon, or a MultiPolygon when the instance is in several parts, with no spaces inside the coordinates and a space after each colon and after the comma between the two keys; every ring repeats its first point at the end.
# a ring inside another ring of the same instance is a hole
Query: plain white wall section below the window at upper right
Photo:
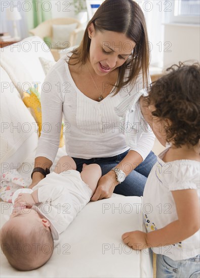
{"type": "Polygon", "coordinates": [[[164,51],[164,68],[179,61],[200,61],[199,41],[200,26],[189,24],[165,24],[166,51],[164,51]],[[168,52],[169,51],[169,52],[168,52]]]}

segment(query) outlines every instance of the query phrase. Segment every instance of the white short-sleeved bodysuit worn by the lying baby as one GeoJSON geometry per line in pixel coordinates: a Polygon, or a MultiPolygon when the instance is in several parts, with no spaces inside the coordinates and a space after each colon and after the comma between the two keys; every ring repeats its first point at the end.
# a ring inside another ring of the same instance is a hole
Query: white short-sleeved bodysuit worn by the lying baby
{"type": "Polygon", "coordinates": [[[13,195],[13,204],[19,193],[31,194],[35,190],[38,190],[40,204],[32,208],[50,221],[54,241],[59,240],[59,235],[92,197],[92,190],[82,180],[81,174],[76,170],[67,170],[60,174],[51,172],[32,190],[17,190],[13,195]]]}

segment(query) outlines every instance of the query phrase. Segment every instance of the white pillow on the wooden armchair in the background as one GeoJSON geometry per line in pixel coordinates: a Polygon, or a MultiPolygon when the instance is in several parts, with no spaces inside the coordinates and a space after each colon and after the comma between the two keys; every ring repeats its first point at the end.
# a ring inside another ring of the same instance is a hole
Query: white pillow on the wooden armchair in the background
{"type": "Polygon", "coordinates": [[[70,47],[69,38],[71,32],[77,27],[77,23],[65,24],[65,25],[52,25],[53,38],[52,48],[54,49],[65,49],[70,47]]]}

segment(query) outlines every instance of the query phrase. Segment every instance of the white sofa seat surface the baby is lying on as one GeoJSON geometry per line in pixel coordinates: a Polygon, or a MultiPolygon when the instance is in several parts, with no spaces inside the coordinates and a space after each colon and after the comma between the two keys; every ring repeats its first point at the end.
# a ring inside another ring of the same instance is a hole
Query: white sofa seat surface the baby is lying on
{"type": "MultiPolygon", "coordinates": [[[[134,251],[121,239],[126,231],[145,230],[140,204],[139,197],[90,202],[61,234],[61,244],[44,266],[18,271],[1,252],[1,277],[152,277],[151,251],[134,251]]],[[[0,205],[2,226],[12,204],[0,205]]]]}

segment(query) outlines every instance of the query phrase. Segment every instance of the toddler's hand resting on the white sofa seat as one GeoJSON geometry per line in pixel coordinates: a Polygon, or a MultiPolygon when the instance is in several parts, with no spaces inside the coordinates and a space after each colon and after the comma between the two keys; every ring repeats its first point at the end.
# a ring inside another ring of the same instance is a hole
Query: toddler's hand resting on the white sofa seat
{"type": "Polygon", "coordinates": [[[134,250],[142,250],[143,248],[149,248],[146,242],[146,233],[140,230],[130,231],[122,235],[122,239],[125,244],[132,247],[134,250]]]}

